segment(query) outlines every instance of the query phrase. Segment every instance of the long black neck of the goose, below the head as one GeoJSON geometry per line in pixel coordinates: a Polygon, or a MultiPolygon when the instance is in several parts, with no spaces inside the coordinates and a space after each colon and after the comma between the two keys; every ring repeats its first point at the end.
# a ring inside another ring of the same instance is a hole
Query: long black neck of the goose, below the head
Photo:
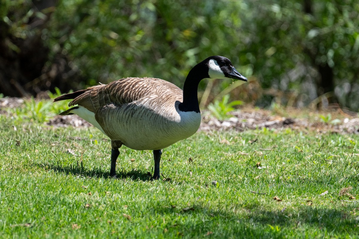
{"type": "Polygon", "coordinates": [[[204,62],[197,64],[188,73],[185,84],[183,85],[183,102],[178,105],[181,111],[195,111],[200,113],[198,104],[197,90],[198,84],[204,78],[208,78],[208,67],[204,62]],[[205,73],[204,73],[205,72],[205,73]]]}

